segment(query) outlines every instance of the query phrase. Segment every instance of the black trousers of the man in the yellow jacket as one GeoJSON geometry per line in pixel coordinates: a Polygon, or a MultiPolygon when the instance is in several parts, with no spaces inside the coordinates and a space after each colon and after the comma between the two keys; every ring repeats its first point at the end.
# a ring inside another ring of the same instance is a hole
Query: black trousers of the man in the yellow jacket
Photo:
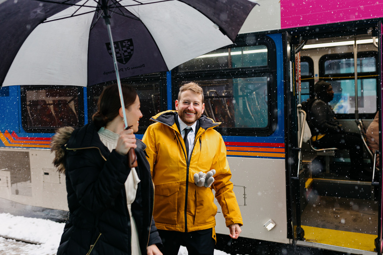
{"type": "Polygon", "coordinates": [[[164,255],[178,255],[180,246],[185,246],[190,255],[213,255],[215,241],[213,230],[198,230],[193,232],[178,232],[158,230],[164,245],[161,252],[164,255]]]}

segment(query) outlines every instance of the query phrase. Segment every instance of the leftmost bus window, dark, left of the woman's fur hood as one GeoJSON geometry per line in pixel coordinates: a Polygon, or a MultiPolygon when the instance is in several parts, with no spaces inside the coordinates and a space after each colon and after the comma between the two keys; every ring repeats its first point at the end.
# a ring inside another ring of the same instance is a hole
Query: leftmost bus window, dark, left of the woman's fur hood
{"type": "Polygon", "coordinates": [[[83,124],[82,87],[21,87],[22,127],[26,132],[53,133],[64,126],[83,124]]]}

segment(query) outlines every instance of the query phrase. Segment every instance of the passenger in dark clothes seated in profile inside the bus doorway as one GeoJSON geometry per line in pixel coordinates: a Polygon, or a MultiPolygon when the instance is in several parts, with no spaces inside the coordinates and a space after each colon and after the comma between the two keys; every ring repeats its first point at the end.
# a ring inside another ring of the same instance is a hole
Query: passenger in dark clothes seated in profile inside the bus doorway
{"type": "Polygon", "coordinates": [[[317,148],[347,149],[350,152],[350,178],[364,180],[363,141],[356,133],[346,132],[329,102],[334,98],[333,87],[329,82],[318,81],[315,84],[316,98],[310,99],[307,123],[312,134],[311,142],[317,148]]]}

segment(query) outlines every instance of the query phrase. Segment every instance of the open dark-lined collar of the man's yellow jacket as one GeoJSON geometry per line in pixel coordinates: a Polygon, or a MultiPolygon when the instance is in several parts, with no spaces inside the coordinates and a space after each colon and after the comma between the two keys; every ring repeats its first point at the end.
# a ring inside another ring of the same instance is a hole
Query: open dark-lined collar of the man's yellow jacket
{"type": "MultiPolygon", "coordinates": [[[[181,134],[180,124],[178,123],[177,111],[168,110],[168,111],[160,112],[156,116],[153,116],[152,118],[150,118],[150,120],[167,125],[173,128],[176,132],[179,132],[181,134]]],[[[221,122],[214,122],[212,119],[207,118],[205,115],[201,115],[201,117],[197,120],[197,125],[195,130],[197,133],[199,133],[200,131],[204,132],[207,129],[217,127],[220,124],[221,122]]]]}

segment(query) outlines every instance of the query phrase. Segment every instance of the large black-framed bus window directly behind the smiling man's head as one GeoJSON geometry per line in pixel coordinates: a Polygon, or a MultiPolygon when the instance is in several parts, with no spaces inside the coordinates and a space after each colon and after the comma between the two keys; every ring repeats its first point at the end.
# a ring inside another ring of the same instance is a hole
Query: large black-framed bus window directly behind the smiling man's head
{"type": "Polygon", "coordinates": [[[173,72],[173,99],[194,81],[203,89],[204,115],[221,122],[222,135],[267,136],[276,127],[275,44],[267,36],[246,45],[246,35],[227,48],[180,65],[173,72]],[[242,45],[241,45],[242,43],[242,45]]]}

